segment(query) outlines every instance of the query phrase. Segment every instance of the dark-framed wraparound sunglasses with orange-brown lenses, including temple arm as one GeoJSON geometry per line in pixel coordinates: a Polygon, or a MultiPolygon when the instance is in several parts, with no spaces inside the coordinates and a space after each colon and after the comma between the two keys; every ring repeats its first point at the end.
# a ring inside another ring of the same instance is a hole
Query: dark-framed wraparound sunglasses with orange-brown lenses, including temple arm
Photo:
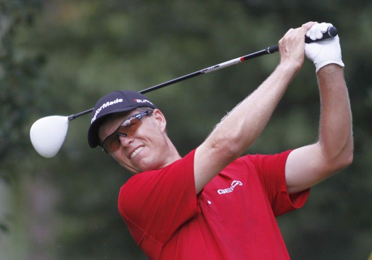
{"type": "Polygon", "coordinates": [[[141,119],[144,116],[150,116],[153,112],[150,110],[135,114],[125,119],[120,126],[103,140],[101,146],[106,153],[112,153],[120,148],[119,136],[130,137],[142,125],[141,119]]]}

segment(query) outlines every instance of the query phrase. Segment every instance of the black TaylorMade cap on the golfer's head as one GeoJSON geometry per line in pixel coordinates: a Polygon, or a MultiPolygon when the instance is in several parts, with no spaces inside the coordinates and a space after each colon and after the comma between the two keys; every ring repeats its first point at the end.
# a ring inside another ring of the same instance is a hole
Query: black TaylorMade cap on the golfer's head
{"type": "Polygon", "coordinates": [[[130,111],[139,107],[156,109],[154,104],[143,94],[131,90],[116,90],[101,97],[91,114],[88,130],[88,143],[91,148],[100,144],[98,128],[108,115],[130,111]]]}

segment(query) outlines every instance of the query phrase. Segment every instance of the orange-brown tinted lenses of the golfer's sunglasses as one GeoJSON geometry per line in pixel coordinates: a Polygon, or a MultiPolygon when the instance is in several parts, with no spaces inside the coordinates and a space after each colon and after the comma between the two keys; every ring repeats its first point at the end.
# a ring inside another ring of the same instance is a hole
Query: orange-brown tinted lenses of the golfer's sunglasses
{"type": "Polygon", "coordinates": [[[108,152],[112,153],[120,148],[120,139],[119,136],[130,137],[133,133],[142,125],[141,120],[137,118],[131,118],[123,122],[119,128],[108,136],[104,143],[103,148],[108,152]]]}

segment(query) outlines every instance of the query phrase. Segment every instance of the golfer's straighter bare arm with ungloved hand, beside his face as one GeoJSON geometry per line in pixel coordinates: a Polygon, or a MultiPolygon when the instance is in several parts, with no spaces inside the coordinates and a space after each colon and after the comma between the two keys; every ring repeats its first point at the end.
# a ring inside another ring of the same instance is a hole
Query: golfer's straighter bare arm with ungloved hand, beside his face
{"type": "Polygon", "coordinates": [[[232,110],[196,149],[197,193],[260,135],[304,60],[304,37],[313,22],[291,29],[279,41],[281,63],[252,94],[232,110]]]}

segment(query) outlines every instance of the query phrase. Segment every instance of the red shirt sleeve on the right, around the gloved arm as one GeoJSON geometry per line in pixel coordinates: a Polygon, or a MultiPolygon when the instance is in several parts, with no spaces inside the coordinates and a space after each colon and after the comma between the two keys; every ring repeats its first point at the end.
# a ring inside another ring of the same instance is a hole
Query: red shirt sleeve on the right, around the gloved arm
{"type": "Polygon", "coordinates": [[[272,155],[247,155],[255,165],[263,189],[270,201],[275,216],[280,216],[302,207],[310,189],[289,194],[285,168],[288,155],[292,150],[272,155]]]}

